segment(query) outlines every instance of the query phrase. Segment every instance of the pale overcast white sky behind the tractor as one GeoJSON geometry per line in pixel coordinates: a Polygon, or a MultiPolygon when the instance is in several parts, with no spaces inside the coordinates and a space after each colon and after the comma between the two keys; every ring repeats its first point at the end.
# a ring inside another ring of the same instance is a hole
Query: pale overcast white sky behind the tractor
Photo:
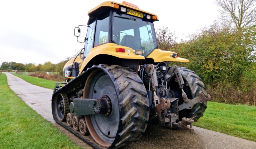
{"type": "MultiPolygon", "coordinates": [[[[2,0],[0,1],[0,65],[4,61],[58,63],[84,47],[74,27],[87,25],[88,11],[105,0],[2,0]]],[[[122,3],[122,1],[116,0],[122,3]]],[[[214,0],[127,0],[158,15],[155,29],[168,27],[176,42],[218,19],[214,0]]]]}

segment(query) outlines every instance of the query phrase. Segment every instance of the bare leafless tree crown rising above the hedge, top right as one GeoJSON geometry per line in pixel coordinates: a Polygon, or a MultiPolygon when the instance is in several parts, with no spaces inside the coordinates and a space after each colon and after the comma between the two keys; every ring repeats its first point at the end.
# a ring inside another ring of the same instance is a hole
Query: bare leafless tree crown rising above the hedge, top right
{"type": "Polygon", "coordinates": [[[256,22],[256,0],[217,0],[220,20],[242,37],[246,27],[256,22]]]}

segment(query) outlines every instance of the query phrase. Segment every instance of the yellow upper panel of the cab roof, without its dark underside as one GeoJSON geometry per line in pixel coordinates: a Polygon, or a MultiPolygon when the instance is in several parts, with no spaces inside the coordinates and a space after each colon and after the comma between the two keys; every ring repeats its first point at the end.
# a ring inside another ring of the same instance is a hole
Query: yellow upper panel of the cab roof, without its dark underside
{"type": "Polygon", "coordinates": [[[158,16],[155,15],[155,14],[153,14],[153,13],[143,11],[143,10],[141,10],[141,9],[138,9],[138,8],[136,8],[136,7],[132,7],[132,6],[127,5],[127,4],[121,4],[121,3],[117,3],[117,2],[113,2],[113,1],[112,1],[112,2],[111,2],[111,1],[103,2],[103,3],[99,4],[99,5],[96,6],[95,8],[91,9],[91,10],[88,12],[88,15],[90,16],[90,13],[91,13],[91,12],[97,10],[97,9],[100,8],[100,7],[112,7],[112,8],[114,8],[114,4],[118,4],[118,5],[119,5],[119,8],[120,8],[121,6],[124,6],[124,7],[126,7],[126,8],[131,8],[131,9],[133,9],[133,10],[135,10],[135,11],[139,11],[139,12],[142,12],[142,13],[144,12],[144,13],[147,13],[147,14],[154,15],[154,16],[157,17],[156,20],[158,21],[158,16]]]}

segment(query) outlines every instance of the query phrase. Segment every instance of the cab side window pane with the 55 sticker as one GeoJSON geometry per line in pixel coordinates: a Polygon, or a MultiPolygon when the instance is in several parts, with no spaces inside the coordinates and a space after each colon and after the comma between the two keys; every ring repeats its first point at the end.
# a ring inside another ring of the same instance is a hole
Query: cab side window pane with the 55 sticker
{"type": "Polygon", "coordinates": [[[108,43],[109,13],[97,18],[94,47],[108,43]]]}

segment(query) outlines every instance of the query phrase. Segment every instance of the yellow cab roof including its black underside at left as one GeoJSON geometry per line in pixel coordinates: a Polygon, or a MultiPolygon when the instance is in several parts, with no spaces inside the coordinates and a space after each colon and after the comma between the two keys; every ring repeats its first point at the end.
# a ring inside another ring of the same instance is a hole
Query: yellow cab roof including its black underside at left
{"type": "Polygon", "coordinates": [[[127,3],[127,2],[117,3],[117,2],[113,2],[113,1],[107,1],[107,2],[103,2],[103,3],[99,4],[98,6],[94,7],[93,9],[91,9],[88,12],[88,15],[89,15],[88,24],[95,17],[105,13],[107,10],[109,10],[109,9],[118,9],[118,8],[115,8],[115,6],[114,6],[115,4],[119,5],[119,8],[120,8],[120,6],[124,6],[126,8],[129,8],[129,9],[132,9],[132,10],[135,10],[135,11],[138,11],[138,12],[154,15],[154,16],[156,16],[156,20],[154,20],[154,21],[158,21],[158,16],[157,15],[155,15],[153,13],[150,13],[150,12],[143,11],[143,10],[139,9],[138,6],[136,6],[134,4],[130,4],[130,3],[127,3]]]}

